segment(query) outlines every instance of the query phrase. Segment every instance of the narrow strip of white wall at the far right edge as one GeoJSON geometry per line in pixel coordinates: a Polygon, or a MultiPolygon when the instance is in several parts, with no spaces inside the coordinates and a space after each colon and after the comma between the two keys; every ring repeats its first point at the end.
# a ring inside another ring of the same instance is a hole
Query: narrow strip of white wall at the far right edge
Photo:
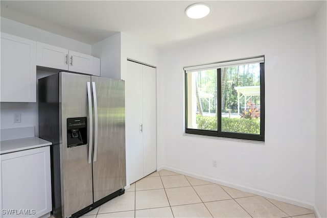
{"type": "Polygon", "coordinates": [[[321,217],[327,217],[327,17],[326,2],[315,18],[316,37],[316,190],[315,205],[321,217]]]}

